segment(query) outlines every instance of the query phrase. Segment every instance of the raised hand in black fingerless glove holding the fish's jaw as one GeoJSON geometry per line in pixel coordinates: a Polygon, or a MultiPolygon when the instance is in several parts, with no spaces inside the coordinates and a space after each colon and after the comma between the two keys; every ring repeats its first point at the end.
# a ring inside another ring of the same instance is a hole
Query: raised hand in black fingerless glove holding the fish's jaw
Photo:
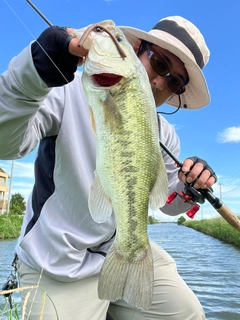
{"type": "Polygon", "coordinates": [[[48,87],[60,87],[74,79],[77,66],[84,62],[86,50],[70,34],[71,29],[52,26],[31,45],[35,68],[48,87]]]}

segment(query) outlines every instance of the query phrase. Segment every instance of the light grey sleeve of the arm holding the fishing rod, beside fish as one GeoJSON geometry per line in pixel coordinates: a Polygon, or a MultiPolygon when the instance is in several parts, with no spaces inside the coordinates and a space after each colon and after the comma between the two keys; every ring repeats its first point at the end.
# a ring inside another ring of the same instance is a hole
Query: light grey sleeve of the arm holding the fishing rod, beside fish
{"type": "MultiPolygon", "coordinates": [[[[159,123],[159,139],[171,151],[171,153],[178,158],[180,154],[180,141],[176,134],[174,126],[172,126],[161,115],[158,115],[159,123]]],[[[165,163],[168,183],[169,195],[172,192],[184,191],[184,183],[178,179],[178,170],[174,160],[162,150],[162,156],[165,163]]],[[[175,216],[184,213],[191,208],[189,203],[184,203],[180,197],[176,197],[171,204],[165,204],[160,210],[167,215],[175,216]]]]}

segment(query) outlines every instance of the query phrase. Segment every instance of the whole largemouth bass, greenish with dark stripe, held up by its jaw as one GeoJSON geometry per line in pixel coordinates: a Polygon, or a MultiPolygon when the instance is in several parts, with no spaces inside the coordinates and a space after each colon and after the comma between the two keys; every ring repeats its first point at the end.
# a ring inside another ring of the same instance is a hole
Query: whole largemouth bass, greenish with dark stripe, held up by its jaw
{"type": "Polygon", "coordinates": [[[99,298],[123,299],[148,309],[154,281],[148,208],[163,206],[168,194],[148,75],[113,21],[74,35],[89,50],[82,83],[97,143],[89,210],[99,223],[113,211],[116,219],[116,237],[100,273],[99,298]]]}

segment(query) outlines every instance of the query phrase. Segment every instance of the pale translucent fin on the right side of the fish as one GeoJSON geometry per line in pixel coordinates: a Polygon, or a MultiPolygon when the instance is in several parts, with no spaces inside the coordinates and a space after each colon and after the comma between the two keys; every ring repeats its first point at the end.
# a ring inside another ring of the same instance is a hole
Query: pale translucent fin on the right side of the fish
{"type": "Polygon", "coordinates": [[[168,196],[168,179],[165,164],[162,157],[159,159],[157,180],[149,195],[149,206],[157,210],[165,205],[168,196]]]}

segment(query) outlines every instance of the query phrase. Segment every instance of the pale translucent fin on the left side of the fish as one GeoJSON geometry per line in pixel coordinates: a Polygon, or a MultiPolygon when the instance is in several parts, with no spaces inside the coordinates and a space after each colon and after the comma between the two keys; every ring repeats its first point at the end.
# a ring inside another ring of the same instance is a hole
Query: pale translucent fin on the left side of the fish
{"type": "Polygon", "coordinates": [[[98,223],[105,222],[112,214],[112,202],[104,193],[96,172],[89,193],[88,207],[93,220],[98,223]]]}

